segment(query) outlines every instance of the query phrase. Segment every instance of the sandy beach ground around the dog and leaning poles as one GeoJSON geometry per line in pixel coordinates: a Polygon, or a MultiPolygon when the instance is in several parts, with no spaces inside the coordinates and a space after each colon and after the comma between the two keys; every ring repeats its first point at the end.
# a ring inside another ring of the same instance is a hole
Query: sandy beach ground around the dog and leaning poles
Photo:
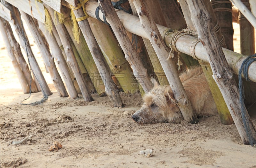
{"type": "MultiPolygon", "coordinates": [[[[239,26],[234,26],[239,52],[239,26]]],[[[256,148],[243,145],[236,126],[221,124],[219,116],[200,118],[198,124],[138,125],[131,119],[141,105],[138,94],[122,95],[124,108],[113,108],[108,97],[97,95],[92,102],[60,98],[31,37],[30,41],[53,95],[40,105],[20,105],[28,94],[23,94],[0,40],[1,168],[256,167],[256,148]],[[28,135],[33,135],[31,142],[9,145],[28,135]],[[50,152],[54,141],[63,147],[50,152]],[[142,157],[139,152],[144,149],[153,149],[153,156],[142,157]]],[[[41,98],[42,93],[35,93],[30,101],[41,98]]],[[[255,118],[252,122],[256,125],[255,118]]]]}

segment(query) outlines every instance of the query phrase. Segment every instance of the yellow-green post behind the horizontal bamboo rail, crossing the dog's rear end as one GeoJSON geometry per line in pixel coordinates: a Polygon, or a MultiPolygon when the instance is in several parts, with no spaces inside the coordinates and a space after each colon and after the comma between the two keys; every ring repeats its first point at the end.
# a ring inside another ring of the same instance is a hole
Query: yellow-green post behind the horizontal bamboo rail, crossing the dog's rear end
{"type": "MultiPolygon", "coordinates": [[[[210,2],[205,2],[205,3],[210,3],[210,2]]],[[[194,26],[193,22],[191,21],[190,12],[189,12],[188,5],[187,5],[186,1],[180,0],[180,6],[181,6],[181,9],[183,10],[186,22],[189,25],[188,28],[191,30],[196,30],[196,27],[194,26]]],[[[210,11],[212,16],[215,17],[213,10],[212,10],[212,6],[207,5],[207,9],[210,11]]],[[[216,18],[214,19],[213,23],[214,24],[217,23],[216,18]]],[[[218,38],[219,38],[219,40],[222,39],[222,34],[220,32],[218,32],[218,38]]],[[[225,125],[230,125],[230,124],[234,123],[233,119],[229,113],[228,107],[227,107],[227,105],[223,99],[223,96],[220,92],[220,89],[218,88],[216,82],[212,78],[213,73],[212,73],[210,64],[208,62],[201,61],[201,60],[199,60],[199,63],[204,71],[204,75],[206,77],[206,80],[207,80],[210,90],[212,92],[213,100],[216,104],[218,113],[220,115],[221,123],[223,123],[225,125]]]]}

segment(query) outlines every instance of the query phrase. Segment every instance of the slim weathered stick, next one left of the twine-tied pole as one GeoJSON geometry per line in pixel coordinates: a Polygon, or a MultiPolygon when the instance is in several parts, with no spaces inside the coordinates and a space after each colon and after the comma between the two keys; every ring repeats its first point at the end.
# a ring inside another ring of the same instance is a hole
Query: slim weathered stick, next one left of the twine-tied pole
{"type": "MultiPolygon", "coordinates": [[[[54,11],[53,11],[53,9],[51,9],[47,5],[45,5],[45,7],[49,11],[52,19],[54,19],[54,11]]],[[[57,17],[57,16],[55,16],[55,17],[57,17]]],[[[85,101],[93,101],[92,95],[90,94],[90,90],[85,85],[84,78],[83,78],[81,70],[80,70],[80,68],[79,68],[79,66],[77,64],[77,61],[76,61],[76,58],[74,56],[74,52],[73,52],[72,46],[71,46],[70,41],[69,41],[69,37],[66,34],[66,31],[65,31],[65,28],[64,28],[64,25],[62,25],[62,24],[57,24],[56,25],[55,24],[55,27],[57,29],[58,34],[60,35],[60,40],[62,42],[64,51],[66,53],[67,61],[70,64],[70,66],[72,68],[72,71],[73,71],[73,73],[74,73],[74,75],[76,77],[77,83],[78,83],[79,88],[80,88],[80,90],[82,92],[84,100],[85,101]]]]}

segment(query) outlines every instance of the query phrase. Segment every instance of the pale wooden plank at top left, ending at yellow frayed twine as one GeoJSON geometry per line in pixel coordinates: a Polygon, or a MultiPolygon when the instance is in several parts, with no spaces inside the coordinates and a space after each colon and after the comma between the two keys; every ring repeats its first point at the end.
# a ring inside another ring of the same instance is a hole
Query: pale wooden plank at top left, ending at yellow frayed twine
{"type": "Polygon", "coordinates": [[[34,0],[6,0],[6,2],[44,23],[45,15],[44,5],[42,3],[35,2],[34,0]]]}

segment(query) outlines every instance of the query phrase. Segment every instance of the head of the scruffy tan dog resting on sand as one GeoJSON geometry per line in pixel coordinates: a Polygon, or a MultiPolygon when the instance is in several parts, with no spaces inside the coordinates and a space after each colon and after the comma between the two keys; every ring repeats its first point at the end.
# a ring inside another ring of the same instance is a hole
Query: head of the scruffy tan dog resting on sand
{"type": "Polygon", "coordinates": [[[143,105],[132,115],[132,119],[139,124],[152,124],[156,122],[179,123],[180,109],[174,99],[170,86],[159,86],[152,79],[154,87],[143,96],[143,105]]]}

